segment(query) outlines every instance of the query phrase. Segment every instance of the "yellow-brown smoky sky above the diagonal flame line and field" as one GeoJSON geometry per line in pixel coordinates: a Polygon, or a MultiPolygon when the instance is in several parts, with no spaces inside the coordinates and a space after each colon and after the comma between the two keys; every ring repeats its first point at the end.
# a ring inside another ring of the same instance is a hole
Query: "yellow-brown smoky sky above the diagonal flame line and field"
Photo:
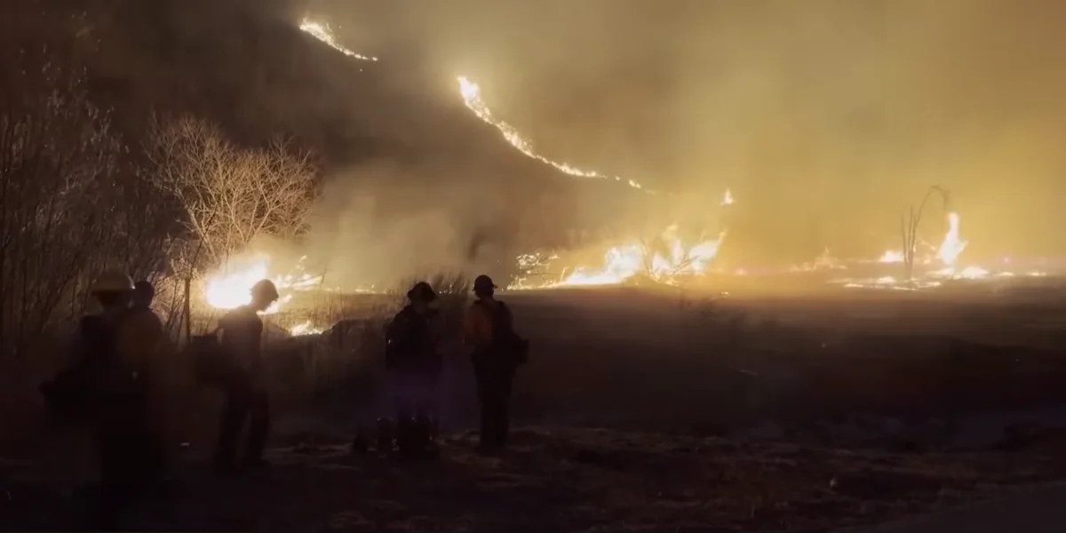
{"type": "MultiPolygon", "coordinates": [[[[952,192],[967,256],[1066,247],[1060,2],[311,0],[307,10],[357,51],[425,54],[441,72],[470,76],[539,151],[682,193],[671,207],[684,216],[713,219],[731,187],[723,255],[899,247],[901,214],[934,183],[952,192]]],[[[940,213],[926,211],[931,240],[940,213]]]]}

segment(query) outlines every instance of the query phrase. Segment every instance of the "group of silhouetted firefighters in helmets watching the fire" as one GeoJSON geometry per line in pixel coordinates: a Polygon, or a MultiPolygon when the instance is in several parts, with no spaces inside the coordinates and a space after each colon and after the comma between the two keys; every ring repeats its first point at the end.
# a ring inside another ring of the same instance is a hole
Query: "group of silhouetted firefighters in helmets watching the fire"
{"type": "MultiPolygon", "coordinates": [[[[494,297],[488,276],[473,282],[475,301],[466,311],[463,338],[470,356],[481,406],[479,451],[505,450],[508,402],[516,369],[526,361],[528,342],[513,327],[507,306],[494,297]]],[[[49,411],[85,422],[96,437],[100,485],[94,520],[115,530],[120,513],[165,474],[168,441],[159,420],[166,409],[162,384],[171,376],[169,339],[151,310],[155,289],[124,273],[106,273],[92,287],[99,304],[83,317],[71,364],[43,384],[49,411]]],[[[386,330],[385,366],[394,411],[378,420],[378,448],[404,456],[435,454],[437,385],[443,368],[440,297],[425,281],[406,294],[407,305],[386,330]]],[[[191,345],[195,374],[224,398],[213,467],[220,474],[269,466],[263,449],[270,435],[269,398],[263,379],[263,322],[259,317],[278,300],[269,279],[251,290],[247,305],[219,320],[219,327],[191,345]],[[248,425],[243,454],[238,453],[248,425]]]]}

